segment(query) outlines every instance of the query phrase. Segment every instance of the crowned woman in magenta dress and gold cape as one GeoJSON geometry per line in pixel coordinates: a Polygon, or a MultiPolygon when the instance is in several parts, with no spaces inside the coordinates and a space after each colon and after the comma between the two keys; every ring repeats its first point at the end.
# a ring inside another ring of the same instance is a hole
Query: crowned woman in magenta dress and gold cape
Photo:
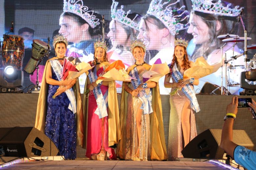
{"type": "Polygon", "coordinates": [[[85,91],[90,90],[84,107],[87,113],[86,156],[92,160],[116,159],[114,149],[110,147],[120,139],[116,85],[115,81],[96,83],[97,77],[104,73],[110,63],[104,42],[97,41],[94,48],[93,68],[89,70],[85,88],[85,91]]]}

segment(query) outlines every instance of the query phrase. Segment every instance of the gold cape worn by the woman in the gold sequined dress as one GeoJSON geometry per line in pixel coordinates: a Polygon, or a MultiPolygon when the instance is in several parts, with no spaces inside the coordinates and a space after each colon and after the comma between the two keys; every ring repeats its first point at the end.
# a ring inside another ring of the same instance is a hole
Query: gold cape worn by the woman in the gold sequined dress
{"type": "MultiPolygon", "coordinates": [[[[143,64],[147,70],[150,69],[150,65],[143,64]]],[[[127,72],[129,73],[136,65],[132,65],[127,72]]],[[[122,85],[121,104],[120,104],[120,126],[121,126],[121,140],[117,147],[117,156],[123,159],[125,158],[123,150],[125,149],[125,143],[123,143],[123,130],[126,125],[126,111],[127,111],[127,96],[128,93],[124,90],[124,84],[122,85]]],[[[152,88],[152,108],[153,113],[149,114],[150,119],[150,159],[151,160],[167,160],[167,152],[164,138],[163,118],[162,118],[162,105],[160,98],[159,85],[152,88]]]]}

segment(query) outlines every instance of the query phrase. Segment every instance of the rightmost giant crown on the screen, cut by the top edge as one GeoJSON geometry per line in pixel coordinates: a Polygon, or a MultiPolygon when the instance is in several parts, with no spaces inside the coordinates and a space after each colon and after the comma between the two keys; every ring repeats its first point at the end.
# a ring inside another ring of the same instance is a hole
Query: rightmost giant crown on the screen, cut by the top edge
{"type": "Polygon", "coordinates": [[[239,6],[235,6],[235,8],[229,8],[231,4],[227,4],[226,7],[224,7],[221,4],[221,0],[218,2],[213,3],[211,0],[191,0],[192,1],[192,8],[195,11],[204,12],[204,13],[210,13],[215,15],[222,15],[222,16],[238,16],[240,15],[241,10],[239,6]]]}

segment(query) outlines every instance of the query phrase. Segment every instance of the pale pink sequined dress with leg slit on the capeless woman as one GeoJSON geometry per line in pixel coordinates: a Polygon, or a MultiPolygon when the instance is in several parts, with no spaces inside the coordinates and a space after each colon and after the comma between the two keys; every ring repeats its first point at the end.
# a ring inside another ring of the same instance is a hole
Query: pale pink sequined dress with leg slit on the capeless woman
{"type": "MultiPolygon", "coordinates": [[[[183,75],[184,71],[180,71],[183,75]]],[[[172,78],[172,82],[175,82],[172,78]]],[[[193,89],[193,85],[190,84],[193,89]]],[[[172,88],[171,91],[175,90],[176,88],[172,88]]],[[[181,91],[178,90],[179,95],[176,93],[173,96],[170,96],[170,124],[169,124],[169,139],[168,139],[168,160],[172,160],[173,158],[183,157],[181,151],[183,149],[183,134],[182,134],[182,127],[181,127],[181,112],[183,106],[186,102],[190,104],[189,99],[186,95],[181,91]]],[[[191,108],[191,107],[190,107],[191,108]]],[[[194,139],[197,136],[197,129],[196,129],[196,121],[195,121],[195,113],[194,110],[190,109],[190,139],[194,139]]]]}

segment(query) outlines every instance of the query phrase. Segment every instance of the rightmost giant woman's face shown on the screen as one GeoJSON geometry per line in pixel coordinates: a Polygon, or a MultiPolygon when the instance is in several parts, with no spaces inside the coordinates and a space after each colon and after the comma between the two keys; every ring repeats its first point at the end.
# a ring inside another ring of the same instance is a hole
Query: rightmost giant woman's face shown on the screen
{"type": "Polygon", "coordinates": [[[189,28],[187,32],[193,35],[195,44],[203,44],[209,39],[209,28],[201,17],[193,13],[189,17],[189,28]]]}

